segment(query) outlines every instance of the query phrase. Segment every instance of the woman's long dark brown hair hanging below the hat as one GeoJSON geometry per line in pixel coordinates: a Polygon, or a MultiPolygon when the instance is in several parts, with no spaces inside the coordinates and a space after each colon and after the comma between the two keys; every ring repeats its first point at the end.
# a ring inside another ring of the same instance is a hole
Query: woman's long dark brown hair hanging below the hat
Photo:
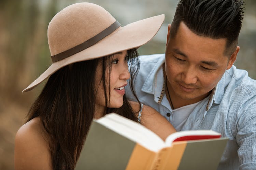
{"type": "MultiPolygon", "coordinates": [[[[128,50],[131,79],[139,69],[138,53],[135,49],[128,50]]],[[[95,73],[102,62],[102,82],[105,91],[105,102],[108,102],[107,80],[105,71],[111,71],[107,56],[94,60],[82,61],[67,65],[52,74],[41,94],[35,100],[27,115],[27,122],[40,117],[48,139],[53,169],[74,169],[86,139],[90,124],[95,116],[95,73]],[[110,68],[110,69],[108,69],[110,68]]],[[[110,75],[110,74],[109,74],[110,75]]],[[[111,75],[110,75],[111,76],[111,75]]],[[[109,81],[110,82],[110,81],[109,81]]],[[[134,93],[133,87],[132,91],[134,93]]],[[[135,93],[134,93],[134,96],[135,93]]],[[[115,112],[137,121],[131,105],[123,97],[124,104],[120,108],[105,108],[105,114],[115,112]]],[[[137,98],[138,99],[138,98],[137,98]]],[[[139,102],[139,101],[138,101],[139,102]]],[[[107,105],[106,105],[107,106],[107,105]]]]}

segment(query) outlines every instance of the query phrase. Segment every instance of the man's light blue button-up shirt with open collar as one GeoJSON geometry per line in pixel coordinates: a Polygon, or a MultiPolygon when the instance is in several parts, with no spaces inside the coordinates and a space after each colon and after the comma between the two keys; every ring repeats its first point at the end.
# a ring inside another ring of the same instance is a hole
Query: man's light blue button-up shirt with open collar
{"type": "MultiPolygon", "coordinates": [[[[144,55],[140,60],[134,81],[139,100],[172,123],[172,109],[163,90],[165,54],[144,55]]],[[[136,101],[129,85],[125,90],[128,99],[136,101]]],[[[226,70],[210,97],[199,102],[181,130],[197,129],[211,129],[229,138],[218,169],[256,169],[256,80],[235,66],[226,70]]]]}

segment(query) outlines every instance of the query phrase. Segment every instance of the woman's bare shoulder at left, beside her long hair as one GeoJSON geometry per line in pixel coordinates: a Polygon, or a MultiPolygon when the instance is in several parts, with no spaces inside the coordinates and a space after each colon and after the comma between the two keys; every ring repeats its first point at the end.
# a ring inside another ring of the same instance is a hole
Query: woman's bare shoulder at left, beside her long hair
{"type": "Polygon", "coordinates": [[[51,169],[47,138],[38,117],[21,126],[15,136],[15,169],[51,169]]]}

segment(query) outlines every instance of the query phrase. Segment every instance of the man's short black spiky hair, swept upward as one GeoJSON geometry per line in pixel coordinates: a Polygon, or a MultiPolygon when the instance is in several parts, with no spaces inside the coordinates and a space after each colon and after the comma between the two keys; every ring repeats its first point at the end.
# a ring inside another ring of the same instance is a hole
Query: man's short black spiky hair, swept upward
{"type": "Polygon", "coordinates": [[[238,43],[243,5],[243,0],[180,0],[171,25],[171,37],[175,37],[183,22],[199,36],[226,38],[225,54],[230,56],[238,43]]]}

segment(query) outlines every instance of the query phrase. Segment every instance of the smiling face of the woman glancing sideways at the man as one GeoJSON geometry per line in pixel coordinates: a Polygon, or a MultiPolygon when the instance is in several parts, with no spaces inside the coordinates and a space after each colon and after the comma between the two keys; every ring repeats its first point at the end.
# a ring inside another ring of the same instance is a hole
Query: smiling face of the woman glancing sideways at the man
{"type": "Polygon", "coordinates": [[[96,111],[103,112],[105,107],[119,108],[123,105],[123,96],[125,94],[124,87],[127,85],[127,80],[130,78],[128,70],[127,51],[115,53],[113,57],[108,58],[110,65],[106,65],[106,94],[108,96],[108,105],[105,103],[104,87],[102,78],[102,62],[99,63],[96,69],[95,87],[96,87],[96,111]],[[109,69],[110,75],[109,75],[109,69]],[[109,82],[110,80],[110,82],[109,82]],[[110,91],[109,91],[110,89],[110,91]]]}

